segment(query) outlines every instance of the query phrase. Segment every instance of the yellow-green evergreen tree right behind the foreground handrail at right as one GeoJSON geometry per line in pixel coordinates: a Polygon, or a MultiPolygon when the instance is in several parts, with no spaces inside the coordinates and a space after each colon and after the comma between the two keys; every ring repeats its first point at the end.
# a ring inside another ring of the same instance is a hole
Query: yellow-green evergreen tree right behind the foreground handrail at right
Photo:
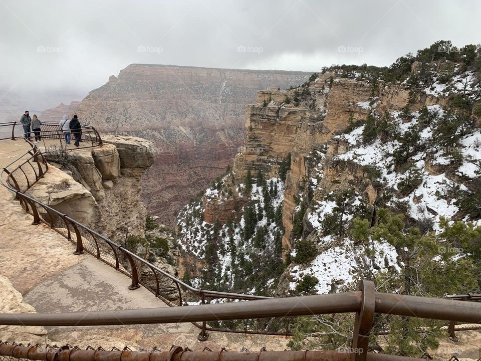
{"type": "MultiPolygon", "coordinates": [[[[462,247],[471,245],[472,240],[481,235],[481,227],[475,229],[462,223],[451,227],[442,220],[443,232],[423,236],[417,228],[406,227],[403,215],[394,215],[385,209],[378,211],[375,226],[369,227],[368,220],[355,219],[351,231],[357,241],[368,245],[367,259],[372,260],[375,254],[371,242],[394,246],[402,259],[399,272],[393,269],[392,272],[377,273],[376,283],[382,292],[443,297],[445,294],[466,293],[477,287],[473,274],[478,271],[478,266],[462,247]]],[[[442,334],[440,328],[444,325],[436,320],[399,316],[382,316],[377,322],[381,328],[390,330],[386,352],[399,350],[409,356],[420,356],[420,350],[437,347],[442,334]]]]}

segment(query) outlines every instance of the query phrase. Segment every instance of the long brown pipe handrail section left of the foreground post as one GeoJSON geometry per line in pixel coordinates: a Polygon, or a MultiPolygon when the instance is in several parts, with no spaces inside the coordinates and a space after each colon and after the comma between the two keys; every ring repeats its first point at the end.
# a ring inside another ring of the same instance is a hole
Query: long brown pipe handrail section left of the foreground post
{"type": "Polygon", "coordinates": [[[101,326],[185,323],[357,312],[361,292],[273,298],[183,307],[68,313],[0,314],[0,324],[25,326],[101,326]]]}

